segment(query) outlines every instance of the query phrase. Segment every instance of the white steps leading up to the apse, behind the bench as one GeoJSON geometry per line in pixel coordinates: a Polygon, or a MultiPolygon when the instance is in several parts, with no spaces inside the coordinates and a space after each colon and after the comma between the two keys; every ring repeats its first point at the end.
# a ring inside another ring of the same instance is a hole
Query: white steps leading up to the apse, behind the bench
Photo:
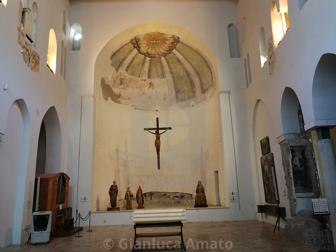
{"type": "Polygon", "coordinates": [[[186,220],[184,208],[135,210],[133,221],[186,220]]]}

